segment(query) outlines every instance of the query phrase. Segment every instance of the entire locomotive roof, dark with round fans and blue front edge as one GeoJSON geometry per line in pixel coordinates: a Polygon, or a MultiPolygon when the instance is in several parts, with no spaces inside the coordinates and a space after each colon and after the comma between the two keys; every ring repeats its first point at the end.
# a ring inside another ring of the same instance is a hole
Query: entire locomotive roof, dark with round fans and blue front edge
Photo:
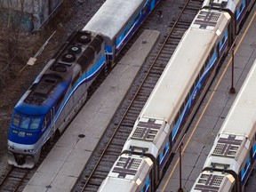
{"type": "Polygon", "coordinates": [[[42,116],[53,106],[59,107],[72,79],[90,66],[101,44],[102,36],[75,31],[36,77],[15,110],[29,116],[42,116]]]}

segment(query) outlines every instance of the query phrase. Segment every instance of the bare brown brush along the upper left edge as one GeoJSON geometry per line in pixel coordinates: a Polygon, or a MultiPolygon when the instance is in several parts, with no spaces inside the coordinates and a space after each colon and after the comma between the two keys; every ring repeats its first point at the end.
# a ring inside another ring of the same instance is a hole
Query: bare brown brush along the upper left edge
{"type": "MultiPolygon", "coordinates": [[[[28,51],[26,33],[22,23],[28,0],[0,0],[0,86],[16,76],[31,52],[28,51]]],[[[28,4],[27,4],[28,5],[28,4]]]]}

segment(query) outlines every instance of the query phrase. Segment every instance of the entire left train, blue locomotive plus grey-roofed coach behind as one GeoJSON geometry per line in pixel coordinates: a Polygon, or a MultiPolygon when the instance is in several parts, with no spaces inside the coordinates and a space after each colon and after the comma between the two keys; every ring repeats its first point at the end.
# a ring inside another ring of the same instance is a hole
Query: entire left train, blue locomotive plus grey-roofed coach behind
{"type": "Polygon", "coordinates": [[[63,132],[84,104],[87,89],[139,28],[159,0],[108,0],[69,36],[14,108],[8,163],[32,168],[44,143],[63,132]]]}

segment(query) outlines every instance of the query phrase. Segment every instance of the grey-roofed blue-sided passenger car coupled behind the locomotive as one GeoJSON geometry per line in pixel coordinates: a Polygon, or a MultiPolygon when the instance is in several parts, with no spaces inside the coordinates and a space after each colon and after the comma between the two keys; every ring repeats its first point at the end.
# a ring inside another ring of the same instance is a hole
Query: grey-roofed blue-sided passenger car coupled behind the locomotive
{"type": "Polygon", "coordinates": [[[92,17],[83,30],[105,37],[105,52],[113,62],[116,54],[132,37],[160,0],[108,0],[92,17]]]}

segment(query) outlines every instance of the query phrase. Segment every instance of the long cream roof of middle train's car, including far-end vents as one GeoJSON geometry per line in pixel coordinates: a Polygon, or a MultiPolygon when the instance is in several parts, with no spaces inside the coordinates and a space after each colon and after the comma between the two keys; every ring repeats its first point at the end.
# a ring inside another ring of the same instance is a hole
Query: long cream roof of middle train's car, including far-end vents
{"type": "Polygon", "coordinates": [[[202,10],[197,14],[172,54],[140,116],[165,119],[169,124],[172,123],[196,79],[195,74],[199,74],[204,60],[211,52],[218,36],[228,25],[229,19],[227,13],[216,14],[215,11],[202,10]]]}

